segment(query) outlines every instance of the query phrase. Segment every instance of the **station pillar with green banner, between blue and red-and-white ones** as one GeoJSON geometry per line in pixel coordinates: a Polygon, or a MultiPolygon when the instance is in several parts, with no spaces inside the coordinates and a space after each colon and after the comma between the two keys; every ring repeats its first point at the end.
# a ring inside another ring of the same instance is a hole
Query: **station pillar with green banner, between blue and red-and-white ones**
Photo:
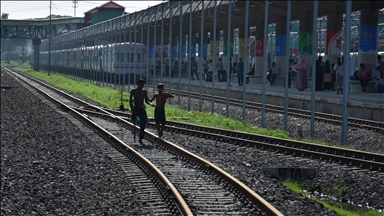
{"type": "MultiPolygon", "coordinates": [[[[309,13],[306,17],[312,17],[309,13]]],[[[299,27],[299,62],[304,59],[307,64],[307,77],[312,77],[312,55],[316,55],[312,50],[312,19],[300,19],[299,27]]]]}

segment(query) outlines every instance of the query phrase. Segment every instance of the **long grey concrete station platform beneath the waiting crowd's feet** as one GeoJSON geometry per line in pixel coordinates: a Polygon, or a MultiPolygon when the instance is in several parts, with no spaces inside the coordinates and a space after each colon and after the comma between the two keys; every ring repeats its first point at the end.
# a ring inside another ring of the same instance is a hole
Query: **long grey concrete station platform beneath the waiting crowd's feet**
{"type": "MultiPolygon", "coordinates": [[[[177,95],[179,88],[179,79],[171,78],[169,83],[168,77],[151,77],[149,84],[157,85],[164,83],[165,88],[171,88],[171,92],[177,95]]],[[[266,83],[268,83],[266,81],[266,83]]],[[[230,81],[229,97],[242,99],[243,86],[239,87],[237,79],[230,81]]],[[[189,80],[187,78],[180,79],[180,90],[188,91],[190,85],[191,92],[200,92],[200,81],[189,80]]],[[[227,82],[201,82],[201,91],[203,94],[212,94],[212,85],[214,85],[215,95],[225,97],[227,93],[227,82]]],[[[303,110],[311,109],[311,89],[298,91],[292,83],[292,87],[288,88],[288,107],[303,110]]],[[[246,100],[253,102],[262,102],[262,84],[246,84],[246,100]]],[[[342,114],[343,95],[336,94],[337,91],[316,91],[315,92],[315,111],[330,113],[335,115],[342,114]]],[[[284,106],[285,88],[281,85],[265,86],[265,102],[266,104],[284,106]]],[[[349,116],[373,121],[384,122],[384,94],[370,92],[349,92],[349,116]]]]}

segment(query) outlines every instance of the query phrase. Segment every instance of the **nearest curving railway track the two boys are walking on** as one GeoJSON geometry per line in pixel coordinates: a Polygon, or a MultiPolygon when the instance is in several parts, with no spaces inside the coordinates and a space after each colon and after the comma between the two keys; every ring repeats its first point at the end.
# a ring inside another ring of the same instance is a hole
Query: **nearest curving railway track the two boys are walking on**
{"type": "MultiPolygon", "coordinates": [[[[172,143],[159,140],[157,136],[150,133],[146,134],[146,139],[151,141],[149,145],[146,145],[144,148],[130,147],[122,141],[132,142],[129,138],[127,139],[126,131],[120,133],[109,132],[111,130],[114,131],[111,128],[113,128],[113,125],[116,125],[111,124],[110,121],[118,121],[120,124],[124,124],[123,127],[115,131],[123,131],[123,128],[128,131],[137,130],[136,126],[130,122],[108,111],[103,111],[101,108],[87,104],[87,102],[75,100],[72,96],[62,91],[52,90],[51,87],[42,82],[32,84],[31,80],[27,81],[20,75],[17,76],[30,86],[34,85],[36,88],[44,89],[38,91],[44,93],[45,97],[49,98],[49,100],[60,104],[63,109],[75,115],[76,118],[87,124],[88,127],[97,131],[100,136],[104,137],[115,148],[135,162],[137,167],[154,182],[154,185],[156,185],[156,188],[158,188],[159,193],[162,194],[165,200],[160,205],[168,206],[170,213],[175,214],[177,212],[177,214],[182,215],[210,213],[281,215],[279,211],[254,191],[209,161],[199,158],[172,143]],[[55,93],[52,91],[55,91],[55,93]],[[58,96],[57,94],[66,96],[58,96]],[[59,97],[64,102],[55,100],[54,97],[59,97]],[[99,118],[94,115],[90,117],[81,114],[70,106],[91,107],[91,109],[103,112],[104,114],[99,118]],[[108,118],[109,121],[103,118],[108,118]],[[157,165],[161,166],[160,169],[162,171],[150,161],[154,161],[157,165]],[[167,173],[167,176],[163,173],[167,173]],[[181,175],[183,175],[183,178],[180,178],[181,175]],[[168,178],[171,178],[172,181],[168,178]],[[178,188],[176,189],[171,182],[177,184],[178,188]],[[179,191],[182,191],[183,195],[179,191]]],[[[34,81],[37,82],[37,80],[34,81]]]]}

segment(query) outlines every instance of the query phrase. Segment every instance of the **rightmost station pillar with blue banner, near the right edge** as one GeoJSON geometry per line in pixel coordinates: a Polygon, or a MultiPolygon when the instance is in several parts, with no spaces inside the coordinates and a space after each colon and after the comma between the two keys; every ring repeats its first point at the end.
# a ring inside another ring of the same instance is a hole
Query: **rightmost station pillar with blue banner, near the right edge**
{"type": "MultiPolygon", "coordinates": [[[[359,28],[359,64],[371,70],[377,61],[378,50],[378,8],[364,8],[361,10],[359,28]]],[[[359,68],[359,65],[356,65],[359,68]]]]}

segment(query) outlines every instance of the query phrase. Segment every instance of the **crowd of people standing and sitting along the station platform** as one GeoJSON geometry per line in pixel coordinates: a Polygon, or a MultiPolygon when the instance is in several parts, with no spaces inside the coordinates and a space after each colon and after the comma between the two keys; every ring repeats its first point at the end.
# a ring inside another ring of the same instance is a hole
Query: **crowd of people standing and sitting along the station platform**
{"type": "MultiPolygon", "coordinates": [[[[227,81],[227,71],[224,70],[226,63],[223,63],[222,59],[219,58],[216,62],[216,65],[212,65],[212,59],[207,59],[204,57],[202,60],[202,79],[207,82],[212,82],[213,71],[217,72],[218,81],[226,82],[227,81]]],[[[165,67],[165,75],[169,75],[169,69],[171,69],[171,77],[173,77],[174,72],[178,71],[178,61],[167,59],[163,62],[163,67],[165,67]]],[[[238,76],[238,85],[243,85],[243,75],[244,75],[244,62],[242,58],[239,58],[238,62],[232,63],[232,58],[229,62],[229,78],[232,74],[237,74],[238,76]]],[[[152,66],[153,67],[153,66],[152,66]]],[[[161,69],[162,65],[158,60],[156,62],[156,70],[161,69]]],[[[181,62],[181,71],[188,71],[188,62],[181,62]]],[[[304,59],[301,59],[300,62],[294,64],[292,59],[289,60],[289,75],[288,75],[288,87],[291,87],[291,78],[297,77],[296,88],[299,91],[304,91],[308,88],[315,88],[315,91],[337,91],[336,94],[343,93],[343,77],[349,76],[351,79],[356,79],[360,81],[362,91],[367,91],[367,85],[369,81],[373,81],[375,84],[376,92],[384,91],[384,61],[382,60],[381,55],[377,56],[376,65],[369,70],[364,63],[360,64],[360,68],[355,70],[355,65],[353,61],[350,61],[350,71],[345,71],[345,61],[344,57],[338,57],[336,63],[331,63],[329,60],[323,62],[323,57],[319,56],[315,63],[316,70],[316,81],[314,83],[308,83],[307,71],[308,66],[304,59]]],[[[285,69],[285,68],[284,68],[285,69]]],[[[253,65],[251,71],[247,73],[255,74],[255,67],[253,65]]],[[[191,80],[200,80],[198,73],[198,63],[195,58],[191,58],[191,70],[190,70],[191,80]]],[[[273,85],[275,78],[278,76],[278,67],[275,62],[272,62],[271,66],[268,68],[266,79],[269,81],[269,85],[273,85]]],[[[229,84],[231,86],[231,84],[229,84]]]]}

